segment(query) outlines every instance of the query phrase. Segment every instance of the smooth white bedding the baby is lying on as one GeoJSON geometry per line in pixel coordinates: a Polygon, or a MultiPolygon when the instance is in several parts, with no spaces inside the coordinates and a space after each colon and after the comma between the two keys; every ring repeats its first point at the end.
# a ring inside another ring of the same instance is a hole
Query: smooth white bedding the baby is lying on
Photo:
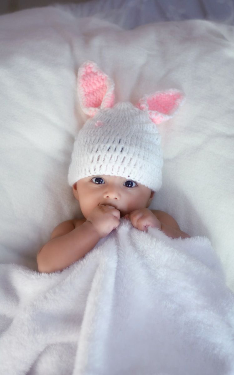
{"type": "Polygon", "coordinates": [[[0,39],[0,263],[36,270],[53,228],[80,216],[67,172],[86,120],[76,75],[89,59],[115,81],[116,101],[184,91],[184,106],[159,126],[163,186],[151,207],[207,236],[234,290],[233,26],[190,20],[123,30],[51,6],[1,16],[0,39]]]}

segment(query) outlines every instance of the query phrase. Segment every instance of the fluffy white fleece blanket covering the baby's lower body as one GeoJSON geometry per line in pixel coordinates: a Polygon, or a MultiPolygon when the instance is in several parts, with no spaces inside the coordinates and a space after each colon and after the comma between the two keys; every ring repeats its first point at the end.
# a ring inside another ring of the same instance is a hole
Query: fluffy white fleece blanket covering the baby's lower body
{"type": "Polygon", "coordinates": [[[234,296],[206,237],[121,219],[63,272],[0,268],[0,374],[234,374],[234,296]]]}

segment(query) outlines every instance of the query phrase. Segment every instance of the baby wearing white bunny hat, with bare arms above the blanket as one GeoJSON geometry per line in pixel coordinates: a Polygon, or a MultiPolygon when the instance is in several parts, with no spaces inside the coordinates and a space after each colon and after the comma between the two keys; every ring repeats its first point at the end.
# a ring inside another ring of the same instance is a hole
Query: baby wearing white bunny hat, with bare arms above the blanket
{"type": "Polygon", "coordinates": [[[67,220],[53,230],[38,252],[39,272],[61,271],[84,257],[118,227],[121,217],[140,231],[151,226],[172,238],[190,237],[172,216],[148,208],[162,185],[155,124],[172,117],[183,95],[178,90],[156,92],[137,107],[127,102],[113,107],[113,91],[113,81],[95,63],[80,67],[79,101],[91,118],[75,139],[68,182],[84,218],[67,220]]]}

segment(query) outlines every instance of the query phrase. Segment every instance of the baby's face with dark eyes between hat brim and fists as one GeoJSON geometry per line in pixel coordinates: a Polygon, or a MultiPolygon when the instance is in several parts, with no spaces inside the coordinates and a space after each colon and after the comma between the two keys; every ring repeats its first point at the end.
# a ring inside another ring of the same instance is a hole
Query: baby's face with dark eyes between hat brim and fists
{"type": "Polygon", "coordinates": [[[80,209],[87,219],[98,205],[111,205],[121,216],[148,207],[154,195],[148,187],[118,176],[96,175],[82,178],[72,187],[80,209]]]}

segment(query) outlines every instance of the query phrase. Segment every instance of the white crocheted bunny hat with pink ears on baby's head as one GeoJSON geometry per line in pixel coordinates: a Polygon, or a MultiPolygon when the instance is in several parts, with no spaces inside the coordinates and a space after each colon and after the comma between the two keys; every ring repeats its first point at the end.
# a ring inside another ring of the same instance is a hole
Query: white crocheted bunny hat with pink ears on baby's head
{"type": "Polygon", "coordinates": [[[91,118],[75,138],[69,185],[92,175],[114,175],[159,190],[163,158],[155,124],[172,118],[183,94],[171,89],[145,95],[136,107],[129,102],[114,105],[113,81],[87,61],[78,71],[78,97],[91,118]]]}

